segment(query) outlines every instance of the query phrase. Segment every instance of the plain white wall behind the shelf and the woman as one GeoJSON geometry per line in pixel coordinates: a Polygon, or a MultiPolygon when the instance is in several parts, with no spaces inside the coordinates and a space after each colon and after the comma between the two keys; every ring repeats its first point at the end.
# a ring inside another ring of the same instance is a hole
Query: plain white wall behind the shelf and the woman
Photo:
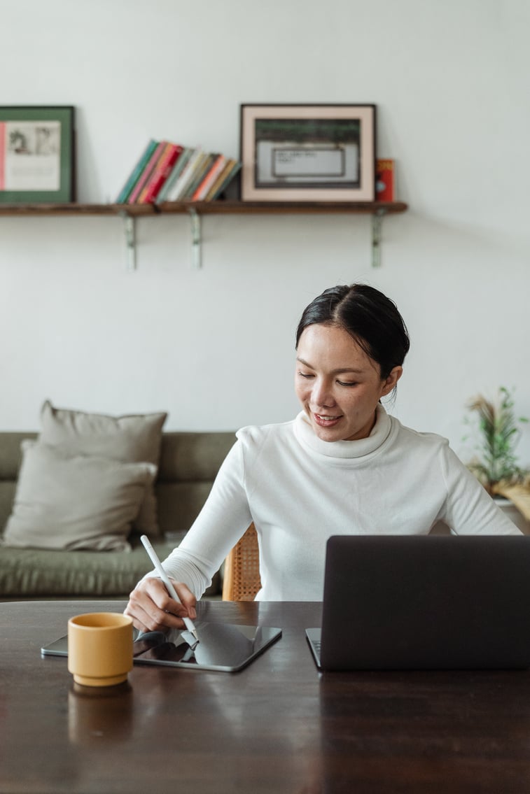
{"type": "MultiPolygon", "coordinates": [[[[165,409],[168,429],[282,421],[293,335],[323,288],[368,281],[412,336],[394,412],[462,448],[466,399],[516,387],[527,349],[525,0],[26,0],[2,7],[4,105],[77,109],[79,201],[117,195],[149,137],[238,154],[240,102],[375,102],[407,213],[370,267],[363,216],[0,218],[0,426],[44,398],[165,409]]],[[[520,442],[530,462],[530,430],[520,442]]]]}

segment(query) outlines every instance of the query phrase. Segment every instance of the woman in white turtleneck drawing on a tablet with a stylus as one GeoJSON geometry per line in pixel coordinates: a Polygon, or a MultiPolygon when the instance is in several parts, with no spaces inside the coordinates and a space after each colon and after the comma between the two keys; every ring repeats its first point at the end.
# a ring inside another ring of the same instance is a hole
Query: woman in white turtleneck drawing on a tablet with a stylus
{"type": "Polygon", "coordinates": [[[409,430],[381,406],[408,347],[396,305],[373,287],[332,287],[309,304],[296,333],[300,414],[238,431],[203,510],[164,561],[182,605],[149,574],[126,607],[137,628],[194,619],[195,600],[251,522],[261,600],[322,599],[331,534],[427,534],[438,520],[456,534],[519,534],[446,439],[409,430]]]}

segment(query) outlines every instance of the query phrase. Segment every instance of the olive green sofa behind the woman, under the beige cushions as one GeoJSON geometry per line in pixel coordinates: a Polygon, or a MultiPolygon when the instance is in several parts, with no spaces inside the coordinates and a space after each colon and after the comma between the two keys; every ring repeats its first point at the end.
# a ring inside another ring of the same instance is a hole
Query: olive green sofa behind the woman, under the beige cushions
{"type": "MultiPolygon", "coordinates": [[[[14,502],[21,441],[37,433],[0,433],[0,530],[14,502]]],[[[219,466],[234,444],[230,432],[168,432],[162,435],[155,483],[161,537],[153,539],[163,559],[191,526],[219,466]],[[171,537],[170,537],[171,536],[171,537]]],[[[59,551],[0,545],[0,601],[25,599],[126,599],[153,566],[138,535],[131,551],[59,551]]],[[[218,573],[206,597],[219,597],[218,573]]]]}

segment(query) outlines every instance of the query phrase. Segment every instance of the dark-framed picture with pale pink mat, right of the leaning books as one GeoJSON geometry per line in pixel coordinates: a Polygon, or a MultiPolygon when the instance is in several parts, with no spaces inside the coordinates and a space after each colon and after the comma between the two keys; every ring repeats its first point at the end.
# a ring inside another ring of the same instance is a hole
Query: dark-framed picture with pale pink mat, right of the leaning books
{"type": "Polygon", "coordinates": [[[242,105],[242,201],[374,201],[375,105],[242,105]]]}

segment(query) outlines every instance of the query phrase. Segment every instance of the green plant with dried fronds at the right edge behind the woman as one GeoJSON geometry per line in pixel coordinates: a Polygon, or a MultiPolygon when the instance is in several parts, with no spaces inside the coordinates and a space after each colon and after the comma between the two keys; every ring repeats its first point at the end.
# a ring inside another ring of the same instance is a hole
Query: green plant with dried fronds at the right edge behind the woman
{"type": "MultiPolygon", "coordinates": [[[[467,467],[489,494],[496,499],[509,499],[525,523],[530,521],[530,472],[520,467],[516,456],[520,425],[527,423],[528,418],[516,417],[513,395],[504,386],[494,401],[477,395],[466,407],[477,415],[475,422],[466,418],[466,423],[474,423],[478,433],[475,455],[467,467]]],[[[513,515],[510,517],[514,520],[513,515]]]]}

